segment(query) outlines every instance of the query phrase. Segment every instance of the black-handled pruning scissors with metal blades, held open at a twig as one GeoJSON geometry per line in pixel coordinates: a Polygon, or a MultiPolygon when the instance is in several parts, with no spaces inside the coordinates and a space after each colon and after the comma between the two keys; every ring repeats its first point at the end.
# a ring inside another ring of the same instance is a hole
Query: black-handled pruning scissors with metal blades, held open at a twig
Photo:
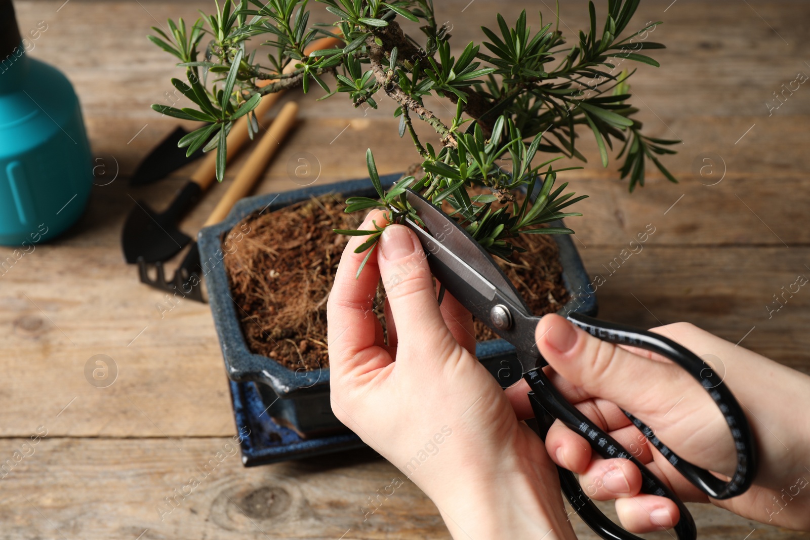
{"type": "MultiPolygon", "coordinates": [[[[518,360],[522,366],[523,378],[531,388],[530,401],[535,411],[538,434],[545,439],[548,428],[555,419],[560,419],[574,432],[577,432],[590,444],[599,456],[625,458],[633,461],[642,473],[642,491],[661,495],[674,501],[680,510],[680,521],[675,525],[680,540],[693,540],[697,537],[695,522],[683,502],[663,484],[659,478],[625,450],[608,433],[591,422],[579,410],[565,401],[562,394],[552,385],[543,372],[548,363],[540,355],[535,342],[535,327],[540,317],[532,315],[492,257],[458,223],[445,215],[437,206],[407,189],[407,202],[416,210],[422,223],[411,218],[405,224],[419,237],[427,256],[433,275],[479,321],[488,325],[496,334],[514,345],[518,360]]],[[[578,313],[569,313],[568,320],[582,330],[603,341],[640,347],[654,351],[679,365],[698,382],[714,399],[714,403],[723,412],[723,417],[731,430],[737,451],[737,467],[734,476],[723,480],[708,470],[694,466],[673,453],[650,427],[644,425],[628,411],[625,415],[675,468],[689,479],[698,489],[714,499],[728,499],[741,495],[751,486],[757,474],[757,449],[754,444],[751,427],[745,418],[740,404],[731,391],[719,383],[719,377],[711,368],[692,351],[678,343],[631,326],[613,322],[599,321],[578,313]]],[[[591,529],[606,540],[641,540],[634,534],[622,529],[593,504],[582,491],[577,477],[561,467],[557,467],[562,491],[591,529]]]]}

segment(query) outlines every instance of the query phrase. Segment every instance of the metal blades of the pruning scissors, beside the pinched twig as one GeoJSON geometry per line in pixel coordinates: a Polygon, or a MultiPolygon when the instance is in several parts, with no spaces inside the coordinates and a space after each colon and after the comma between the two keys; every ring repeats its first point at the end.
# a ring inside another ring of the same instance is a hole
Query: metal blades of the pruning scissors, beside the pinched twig
{"type": "MultiPolygon", "coordinates": [[[[523,301],[520,293],[515,290],[509,278],[492,260],[492,256],[484,251],[484,248],[473,240],[472,236],[463,227],[460,227],[458,223],[450,219],[437,206],[411,189],[406,190],[406,198],[407,202],[416,210],[416,214],[419,215],[433,240],[444,248],[433,254],[440,257],[450,270],[454,270],[455,274],[458,274],[462,279],[467,278],[467,269],[472,270],[496,287],[501,295],[525,309],[527,315],[531,315],[531,310],[523,301]]],[[[411,227],[416,227],[416,223],[409,224],[411,227]]],[[[442,283],[444,282],[442,281],[442,283]]]]}

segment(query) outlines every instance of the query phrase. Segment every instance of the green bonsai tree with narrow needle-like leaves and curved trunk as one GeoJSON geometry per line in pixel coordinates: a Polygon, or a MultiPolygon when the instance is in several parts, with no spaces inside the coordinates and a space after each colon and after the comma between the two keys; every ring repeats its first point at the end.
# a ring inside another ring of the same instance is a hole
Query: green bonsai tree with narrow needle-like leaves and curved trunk
{"type": "MultiPolygon", "coordinates": [[[[589,2],[590,28],[570,43],[559,30],[559,2],[551,22],[539,15],[536,31],[526,11],[512,25],[497,15],[496,30],[481,28],[488,41],[467,44],[458,57],[450,52],[448,28],[436,22],[433,0],[316,1],[335,15],[334,23],[310,25],[309,0],[225,0],[191,28],[183,19],[169,20],[171,36],[152,28],[158,35],[149,39],[185,68],[187,80],[172,83],[194,104],[152,108],[207,122],[182,138],[180,146],[188,147],[189,155],[199,147],[218,152],[220,181],[233,121],[248,115],[252,137],[258,130],[253,110],[262,96],[297,86],[306,92],[313,83],[326,91],[325,98],[347,94],[354,107],[377,108],[377,100],[394,100],[399,136],[407,133],[419,155],[415,173],[386,192],[372,152],[366,151],[379,199],[349,198],[347,212],[382,206],[395,222],[412,211],[403,191],[415,189],[435,204],[449,203],[475,240],[500,257],[519,249],[511,240],[520,234],[573,232],[544,225],[581,215],[563,210],[586,196],[563,194],[567,183],[555,189],[556,174],[569,168],[553,167],[563,157],[586,161],[576,147],[580,130],[595,137],[604,167],[608,147],[621,142],[620,174],[629,178],[630,191],[644,185],[647,159],[676,181],[656,156],[674,153],[666,146],[678,141],[643,135],[642,123],[633,118],[637,108],[626,103],[627,79],[634,70],[622,64],[659,66],[638,51],[664,47],[647,40],[659,22],[621,37],[640,0],[608,0],[601,30],[589,2]],[[422,35],[406,33],[401,21],[420,24],[422,35]],[[258,36],[264,41],[248,53],[248,41],[258,36]],[[307,46],[323,36],[338,38],[343,46],[305,55],[307,46]],[[425,96],[452,102],[453,117],[428,110],[425,96]],[[422,140],[414,121],[426,122],[436,137],[422,140]],[[538,182],[542,188],[534,204],[527,205],[527,199],[518,203],[516,189],[525,186],[533,193],[538,182]]],[[[338,232],[368,235],[358,253],[371,247],[370,255],[382,228],[338,232]]]]}

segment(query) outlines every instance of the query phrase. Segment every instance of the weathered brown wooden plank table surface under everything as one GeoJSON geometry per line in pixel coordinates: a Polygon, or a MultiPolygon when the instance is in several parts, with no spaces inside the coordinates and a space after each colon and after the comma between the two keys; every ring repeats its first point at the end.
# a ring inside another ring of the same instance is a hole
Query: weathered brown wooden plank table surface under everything
{"type": "MultiPolygon", "coordinates": [[[[528,3],[467,2],[437,2],[437,18],[453,25],[457,46],[480,39],[480,25],[494,26],[497,11],[514,20],[528,3]]],[[[561,28],[569,36],[585,28],[586,2],[562,3],[561,28]]],[[[177,100],[168,81],[180,71],[145,36],[168,17],[193,20],[213,2],[15,4],[21,31],[47,24],[32,54],[75,84],[100,185],[70,232],[0,275],[0,461],[25,454],[0,474],[0,538],[449,538],[435,506],[411,483],[364,521],[360,507],[401,475],[364,452],[252,469],[238,454],[228,457],[161,520],[156,508],[225,447],[235,427],[208,306],[185,300],[161,313],[163,295],[138,283],[119,238],[133,198],[160,207],[189,174],[145,188],[127,183],[176,125],[149,105],[177,100]],[[97,354],[118,369],[104,389],[84,376],[97,354]],[[38,430],[47,436],[26,446],[38,430]]],[[[548,17],[553,4],[532,4],[535,28],[536,9],[548,17]]],[[[680,183],[650,172],[645,188],[626,193],[616,164],[601,168],[595,144],[583,137],[591,163],[565,180],[590,198],[578,207],[585,216],[569,225],[586,268],[608,276],[597,291],[600,313],[642,326],[692,321],[810,372],[810,293],[800,291],[772,317],[766,308],[798,274],[810,273],[810,89],[799,87],[772,115],[766,105],[777,104],[773,92],[782,83],[810,74],[810,5],[645,0],[634,20],[639,28],[664,22],[653,35],[669,47],[654,51],[662,67],[640,65],[632,102],[647,134],[683,141],[666,161],[680,183]],[[701,176],[705,157],[714,169],[701,176]],[[648,223],[655,232],[642,253],[613,274],[603,270],[648,223]]],[[[410,142],[397,136],[390,104],[364,112],[345,96],[316,102],[322,94],[313,93],[290,95],[301,101],[304,120],[257,193],[297,187],[287,172],[297,151],[317,157],[320,183],[364,176],[366,147],[381,172],[415,160],[410,142]]],[[[203,223],[243,159],[185,221],[187,232],[203,223]]],[[[10,254],[0,248],[0,260],[10,254]]],[[[692,509],[701,538],[806,538],[713,507],[692,509]]],[[[582,522],[575,526],[582,538],[595,538],[582,522]]]]}

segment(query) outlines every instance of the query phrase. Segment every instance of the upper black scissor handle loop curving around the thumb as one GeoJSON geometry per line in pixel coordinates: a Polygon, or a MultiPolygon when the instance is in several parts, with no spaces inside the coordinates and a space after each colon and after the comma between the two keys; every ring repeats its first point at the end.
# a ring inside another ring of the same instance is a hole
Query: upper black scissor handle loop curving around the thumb
{"type": "MultiPolygon", "coordinates": [[[[723,413],[723,418],[731,430],[731,437],[734,439],[737,451],[737,466],[734,476],[728,482],[717,478],[706,469],[701,469],[689,463],[689,461],[681,459],[654,435],[650,427],[644,425],[628,411],[625,410],[624,413],[644,433],[647,440],[650,440],[650,443],[667,458],[672,466],[706,495],[714,499],[729,499],[742,495],[748,490],[748,487],[751,487],[754,477],[757,475],[758,465],[757,446],[754,443],[753,432],[744,411],[740,407],[740,403],[737,402],[734,394],[723,384],[723,381],[714,373],[712,368],[686,347],[660,334],[639,330],[632,326],[620,325],[615,322],[599,321],[579,313],[570,313],[568,320],[588,334],[605,342],[639,347],[665,356],[701,383],[701,386],[706,389],[706,392],[709,393],[714,403],[723,413]]],[[[591,447],[596,449],[596,446],[592,443],[591,447]]]]}

